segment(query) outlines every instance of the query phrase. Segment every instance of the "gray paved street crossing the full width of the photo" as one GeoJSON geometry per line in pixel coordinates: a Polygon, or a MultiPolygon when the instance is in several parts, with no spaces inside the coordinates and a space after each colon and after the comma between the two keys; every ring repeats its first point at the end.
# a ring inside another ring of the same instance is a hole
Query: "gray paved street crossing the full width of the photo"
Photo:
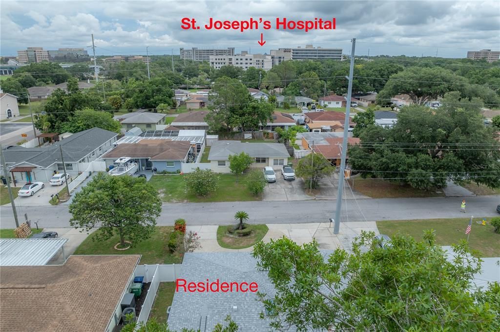
{"type": "MultiPolygon", "coordinates": [[[[466,216],[498,216],[495,208],[500,196],[465,197],[466,216]]],[[[358,199],[362,214],[368,221],[431,219],[463,217],[460,213],[461,197],[358,199]]],[[[345,202],[344,202],[345,203],[345,202]]],[[[250,223],[317,223],[333,217],[335,201],[285,201],[285,202],[221,202],[221,203],[169,203],[163,204],[158,225],[173,225],[177,218],[184,218],[188,225],[228,225],[233,223],[236,211],[246,211],[250,223]]],[[[66,205],[21,206],[19,220],[24,213],[31,221],[39,221],[39,227],[69,227],[66,205]]],[[[356,201],[347,200],[342,209],[342,221],[364,221],[356,201]],[[347,214],[345,214],[347,212],[347,214]]],[[[0,208],[0,228],[13,228],[14,220],[10,205],[0,208]]]]}

